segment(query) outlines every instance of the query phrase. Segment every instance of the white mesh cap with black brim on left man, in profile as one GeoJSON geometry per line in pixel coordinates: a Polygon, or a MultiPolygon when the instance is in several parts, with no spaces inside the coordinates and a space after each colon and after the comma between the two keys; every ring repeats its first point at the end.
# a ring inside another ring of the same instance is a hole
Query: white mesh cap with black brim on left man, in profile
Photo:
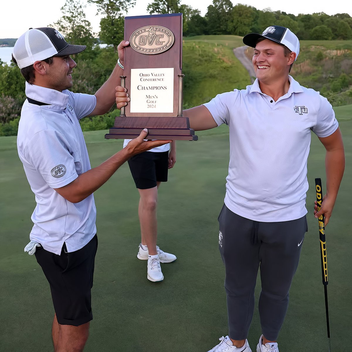
{"type": "Polygon", "coordinates": [[[51,56],[78,54],[84,49],[86,45],[67,43],[57,29],[42,27],[31,28],[22,34],[17,39],[12,54],[18,67],[23,69],[51,56]]]}

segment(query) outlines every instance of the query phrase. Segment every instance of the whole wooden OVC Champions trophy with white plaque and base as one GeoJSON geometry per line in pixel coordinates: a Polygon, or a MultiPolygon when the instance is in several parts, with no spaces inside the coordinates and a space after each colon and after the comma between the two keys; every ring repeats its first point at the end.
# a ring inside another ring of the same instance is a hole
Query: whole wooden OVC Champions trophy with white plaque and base
{"type": "Polygon", "coordinates": [[[183,116],[182,13],[125,17],[124,76],[130,102],[106,139],[197,140],[183,116]]]}

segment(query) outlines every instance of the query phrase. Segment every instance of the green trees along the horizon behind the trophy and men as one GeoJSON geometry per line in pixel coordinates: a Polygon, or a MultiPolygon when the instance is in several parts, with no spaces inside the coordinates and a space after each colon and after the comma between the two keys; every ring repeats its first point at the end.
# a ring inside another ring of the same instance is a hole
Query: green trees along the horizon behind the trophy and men
{"type": "MultiPolygon", "coordinates": [[[[136,0],[88,0],[88,3],[95,4],[98,14],[103,16],[99,33],[92,32],[80,0],[66,0],[61,8],[63,16],[52,25],[68,41],[86,44],[89,48],[97,42],[117,48],[124,37],[124,13],[128,14],[128,10],[136,5],[136,0]]],[[[183,36],[186,37],[203,34],[244,36],[250,32],[261,33],[266,27],[275,24],[289,27],[301,40],[352,39],[352,17],[347,13],[330,16],[319,12],[296,16],[270,8],[258,10],[242,4],[233,6],[230,0],[213,0],[205,16],[189,5],[180,4],[180,0],[155,0],[147,5],[146,10],[150,14],[182,12],[183,36]]]]}

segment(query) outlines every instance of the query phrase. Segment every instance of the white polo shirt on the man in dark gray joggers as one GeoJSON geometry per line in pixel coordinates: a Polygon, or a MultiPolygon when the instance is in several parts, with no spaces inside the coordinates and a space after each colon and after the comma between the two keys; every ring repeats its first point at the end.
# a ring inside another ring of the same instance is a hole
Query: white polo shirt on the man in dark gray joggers
{"type": "Polygon", "coordinates": [[[224,202],[247,219],[278,222],[304,216],[311,131],[328,137],[338,128],[326,98],[291,76],[289,81],[288,92],[277,101],[263,94],[256,80],[204,104],[218,126],[229,126],[224,202]]]}

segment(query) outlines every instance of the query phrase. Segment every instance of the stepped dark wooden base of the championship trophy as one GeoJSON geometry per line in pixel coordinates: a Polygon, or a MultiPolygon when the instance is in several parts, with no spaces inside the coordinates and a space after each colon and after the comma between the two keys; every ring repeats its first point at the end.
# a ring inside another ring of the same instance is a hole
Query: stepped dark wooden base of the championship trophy
{"type": "Polygon", "coordinates": [[[115,118],[114,127],[105,139],[133,139],[143,128],[148,129],[148,139],[198,140],[189,128],[187,117],[122,117],[115,118]]]}

